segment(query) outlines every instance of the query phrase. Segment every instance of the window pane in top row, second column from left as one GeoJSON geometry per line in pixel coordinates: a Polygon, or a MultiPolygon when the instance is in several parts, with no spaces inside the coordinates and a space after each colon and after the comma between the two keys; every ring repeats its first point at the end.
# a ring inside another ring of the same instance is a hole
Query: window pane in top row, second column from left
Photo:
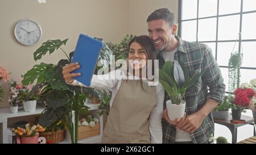
{"type": "Polygon", "coordinates": [[[216,0],[199,0],[199,18],[217,15],[216,0]]]}

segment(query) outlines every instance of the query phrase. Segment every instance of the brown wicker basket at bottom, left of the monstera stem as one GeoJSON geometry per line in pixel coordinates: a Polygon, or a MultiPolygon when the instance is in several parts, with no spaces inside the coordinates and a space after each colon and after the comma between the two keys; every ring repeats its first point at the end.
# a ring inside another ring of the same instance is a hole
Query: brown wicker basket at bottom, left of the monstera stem
{"type": "Polygon", "coordinates": [[[52,141],[52,143],[59,143],[64,140],[64,130],[44,132],[40,136],[45,137],[46,141],[52,141]]]}

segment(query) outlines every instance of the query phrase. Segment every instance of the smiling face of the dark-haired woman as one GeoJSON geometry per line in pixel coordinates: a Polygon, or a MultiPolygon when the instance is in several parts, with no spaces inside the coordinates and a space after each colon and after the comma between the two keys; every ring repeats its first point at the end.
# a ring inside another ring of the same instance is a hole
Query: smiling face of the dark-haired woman
{"type": "Polygon", "coordinates": [[[142,69],[147,64],[147,55],[143,47],[136,42],[131,43],[129,48],[129,64],[133,70],[142,69]]]}

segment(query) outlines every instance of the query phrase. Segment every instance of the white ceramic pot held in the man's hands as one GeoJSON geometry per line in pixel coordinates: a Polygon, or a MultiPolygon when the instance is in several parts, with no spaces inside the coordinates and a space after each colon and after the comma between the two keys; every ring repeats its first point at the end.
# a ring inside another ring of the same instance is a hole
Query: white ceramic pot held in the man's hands
{"type": "Polygon", "coordinates": [[[180,104],[172,104],[171,100],[166,101],[166,108],[169,118],[174,121],[176,118],[178,121],[184,116],[186,102],[181,100],[180,104]]]}

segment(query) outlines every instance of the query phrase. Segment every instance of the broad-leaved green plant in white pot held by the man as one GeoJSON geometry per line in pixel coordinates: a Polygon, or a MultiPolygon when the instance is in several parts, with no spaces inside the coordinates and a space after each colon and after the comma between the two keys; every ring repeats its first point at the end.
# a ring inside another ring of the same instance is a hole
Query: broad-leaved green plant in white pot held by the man
{"type": "Polygon", "coordinates": [[[173,121],[180,120],[185,112],[185,100],[183,100],[187,88],[195,82],[204,72],[198,72],[193,77],[184,63],[167,61],[162,69],[159,69],[159,81],[170,97],[166,101],[169,118],[173,121]]]}

